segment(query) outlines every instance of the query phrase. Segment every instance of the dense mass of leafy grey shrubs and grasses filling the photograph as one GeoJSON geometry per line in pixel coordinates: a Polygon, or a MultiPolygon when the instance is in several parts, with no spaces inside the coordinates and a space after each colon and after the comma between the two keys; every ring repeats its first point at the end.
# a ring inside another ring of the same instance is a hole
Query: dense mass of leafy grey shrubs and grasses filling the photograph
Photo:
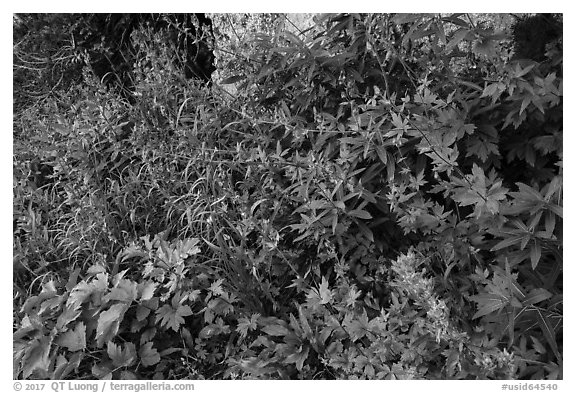
{"type": "Polygon", "coordinates": [[[14,377],[562,378],[562,17],[506,17],[214,15],[212,83],[16,17],[14,377]]]}

